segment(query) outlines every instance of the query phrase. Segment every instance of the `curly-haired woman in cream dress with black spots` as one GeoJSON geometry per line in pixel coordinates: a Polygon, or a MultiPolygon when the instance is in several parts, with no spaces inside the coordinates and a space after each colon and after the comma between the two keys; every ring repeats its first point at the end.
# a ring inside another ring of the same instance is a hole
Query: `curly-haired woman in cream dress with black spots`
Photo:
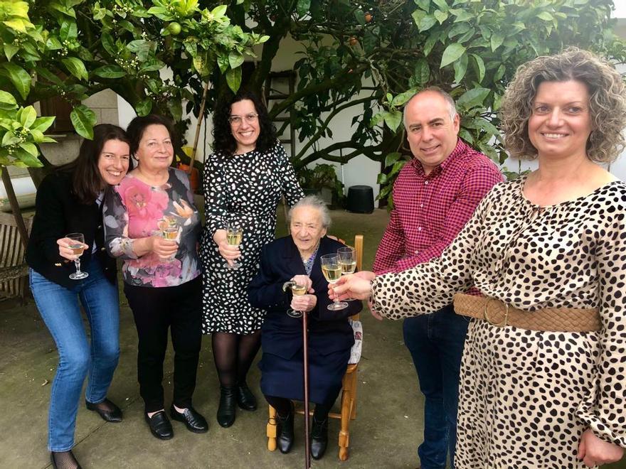
{"type": "Polygon", "coordinates": [[[472,320],[455,465],[615,462],[626,447],[626,184],[598,163],[624,146],[625,85],[573,48],[519,68],[503,114],[511,155],[537,158],[539,169],[496,185],[437,259],[376,278],[361,273],[335,289],[371,294],[374,311],[391,319],[437,311],[471,284],[525,311],[598,308],[594,332],[472,320]]]}

